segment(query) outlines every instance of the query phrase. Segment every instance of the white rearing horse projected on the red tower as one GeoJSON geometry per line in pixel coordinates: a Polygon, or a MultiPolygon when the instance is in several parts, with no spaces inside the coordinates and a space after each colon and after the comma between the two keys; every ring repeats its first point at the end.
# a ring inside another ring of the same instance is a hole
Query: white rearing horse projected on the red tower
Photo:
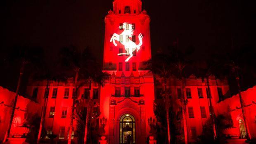
{"type": "Polygon", "coordinates": [[[129,24],[129,23],[123,23],[123,25],[119,26],[119,29],[123,29],[123,32],[118,35],[116,33],[113,34],[113,36],[110,39],[110,42],[113,41],[113,44],[116,46],[116,42],[115,40],[119,41],[122,45],[124,45],[126,53],[119,53],[117,55],[122,55],[122,54],[126,54],[126,55],[130,55],[125,61],[129,61],[129,59],[131,57],[133,57],[133,52],[135,50],[137,50],[137,52],[140,50],[140,46],[142,45],[142,34],[139,34],[139,40],[140,43],[138,45],[136,45],[135,42],[133,42],[132,40],[130,40],[130,38],[132,38],[133,36],[133,25],[129,24]],[[125,40],[123,40],[125,39],[125,40]]]}

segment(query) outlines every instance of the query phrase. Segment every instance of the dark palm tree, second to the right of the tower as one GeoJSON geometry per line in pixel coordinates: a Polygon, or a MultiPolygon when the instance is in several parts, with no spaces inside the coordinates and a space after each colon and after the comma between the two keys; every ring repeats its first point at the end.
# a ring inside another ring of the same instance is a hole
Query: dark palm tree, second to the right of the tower
{"type": "Polygon", "coordinates": [[[191,61],[188,60],[188,57],[194,52],[194,47],[188,47],[184,52],[179,50],[178,47],[170,47],[170,65],[172,69],[172,74],[180,79],[180,89],[181,89],[181,107],[182,107],[182,116],[183,116],[183,125],[184,125],[184,137],[185,144],[188,143],[187,140],[187,115],[186,115],[186,105],[187,99],[184,96],[185,89],[185,78],[191,75],[191,61]]]}

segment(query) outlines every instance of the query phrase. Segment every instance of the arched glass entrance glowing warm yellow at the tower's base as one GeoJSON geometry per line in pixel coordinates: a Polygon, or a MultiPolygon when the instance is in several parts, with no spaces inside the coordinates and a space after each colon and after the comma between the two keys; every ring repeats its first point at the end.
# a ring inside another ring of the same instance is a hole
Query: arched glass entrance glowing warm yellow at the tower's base
{"type": "Polygon", "coordinates": [[[124,114],[120,118],[120,144],[135,144],[135,118],[130,114],[124,114]]]}

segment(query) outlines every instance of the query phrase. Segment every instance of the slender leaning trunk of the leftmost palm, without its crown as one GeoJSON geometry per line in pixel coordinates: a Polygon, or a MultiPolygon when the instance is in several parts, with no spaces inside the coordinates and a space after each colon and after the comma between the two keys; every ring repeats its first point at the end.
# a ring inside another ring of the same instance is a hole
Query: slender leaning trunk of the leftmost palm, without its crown
{"type": "Polygon", "coordinates": [[[6,139],[7,139],[7,137],[9,137],[10,131],[11,131],[11,128],[12,128],[12,120],[13,120],[14,112],[15,112],[15,109],[16,109],[16,104],[17,104],[17,100],[18,100],[18,92],[19,92],[19,87],[20,87],[20,83],[21,83],[21,77],[22,77],[23,72],[24,72],[24,67],[25,67],[25,64],[23,62],[22,66],[20,68],[20,71],[19,71],[19,80],[18,80],[16,92],[15,92],[14,103],[13,103],[13,106],[12,106],[12,113],[11,113],[8,129],[7,129],[7,132],[5,133],[5,138],[4,138],[3,142],[6,142],[6,139]]]}

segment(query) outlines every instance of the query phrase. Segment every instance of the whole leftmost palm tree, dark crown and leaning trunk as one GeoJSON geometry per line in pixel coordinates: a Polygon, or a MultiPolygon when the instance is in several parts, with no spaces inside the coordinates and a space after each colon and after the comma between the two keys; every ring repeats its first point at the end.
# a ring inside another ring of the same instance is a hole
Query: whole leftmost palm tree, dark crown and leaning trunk
{"type": "Polygon", "coordinates": [[[12,121],[14,118],[14,112],[17,104],[18,99],[18,92],[21,84],[21,78],[24,73],[24,69],[28,64],[33,67],[40,66],[40,59],[43,57],[43,49],[41,47],[12,47],[8,54],[8,59],[10,61],[16,61],[20,65],[19,69],[19,80],[15,92],[14,104],[12,107],[12,113],[9,121],[9,125],[7,128],[7,132],[5,134],[5,138],[3,142],[6,142],[7,137],[9,137],[10,130],[12,127],[12,121]]]}

